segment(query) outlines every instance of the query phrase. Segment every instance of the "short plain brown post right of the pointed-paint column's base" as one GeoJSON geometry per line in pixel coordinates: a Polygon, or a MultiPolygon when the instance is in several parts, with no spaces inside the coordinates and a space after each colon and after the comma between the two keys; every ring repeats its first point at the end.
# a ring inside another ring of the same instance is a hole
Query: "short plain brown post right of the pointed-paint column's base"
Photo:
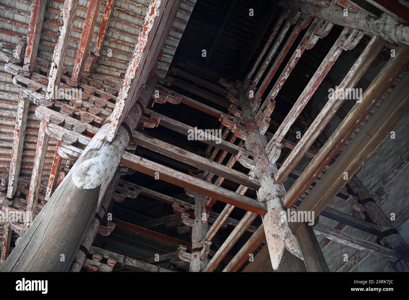
{"type": "Polygon", "coordinates": [[[295,232],[301,252],[303,253],[307,271],[329,272],[330,270],[328,269],[324,254],[321,251],[321,247],[312,228],[313,227],[308,225],[308,223],[303,223],[295,232]]]}

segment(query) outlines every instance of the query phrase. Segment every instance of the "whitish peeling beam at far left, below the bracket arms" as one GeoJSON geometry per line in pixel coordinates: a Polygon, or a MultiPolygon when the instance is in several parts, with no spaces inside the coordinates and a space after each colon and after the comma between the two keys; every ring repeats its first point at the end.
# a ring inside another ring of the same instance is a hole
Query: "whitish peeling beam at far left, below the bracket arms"
{"type": "Polygon", "coordinates": [[[14,126],[13,150],[11,150],[7,198],[12,198],[17,191],[18,176],[20,175],[21,157],[23,154],[24,135],[27,126],[29,106],[29,99],[26,98],[20,91],[17,103],[16,125],[14,126]]]}

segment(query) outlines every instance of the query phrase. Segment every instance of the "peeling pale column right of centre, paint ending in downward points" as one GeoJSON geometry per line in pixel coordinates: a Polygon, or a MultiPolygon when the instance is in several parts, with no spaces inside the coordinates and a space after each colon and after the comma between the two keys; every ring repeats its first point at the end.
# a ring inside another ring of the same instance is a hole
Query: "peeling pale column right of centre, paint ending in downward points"
{"type": "Polygon", "coordinates": [[[255,164],[253,172],[261,184],[257,191],[257,199],[264,202],[267,208],[267,213],[263,216],[263,225],[270,260],[273,269],[277,270],[285,249],[291,253],[292,260],[302,259],[302,254],[297,238],[291,232],[290,225],[286,219],[281,217],[281,212],[284,211],[281,202],[281,198],[285,194],[284,186],[276,183],[272,177],[277,172],[277,167],[268,159],[264,149],[267,141],[263,143],[264,137],[258,131],[254,114],[249,106],[245,91],[241,87],[239,88],[239,100],[248,134],[245,146],[253,153],[255,164]]]}

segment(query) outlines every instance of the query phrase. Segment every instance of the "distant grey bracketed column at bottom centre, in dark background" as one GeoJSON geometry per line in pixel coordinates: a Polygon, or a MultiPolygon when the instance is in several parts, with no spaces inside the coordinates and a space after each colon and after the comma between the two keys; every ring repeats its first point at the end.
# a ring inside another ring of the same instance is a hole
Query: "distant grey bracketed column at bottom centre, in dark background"
{"type": "Polygon", "coordinates": [[[201,272],[209,259],[205,257],[202,259],[200,253],[202,251],[202,240],[205,238],[208,226],[207,222],[202,223],[202,204],[206,196],[196,193],[195,196],[195,219],[192,226],[192,252],[189,264],[189,272],[201,272]]]}

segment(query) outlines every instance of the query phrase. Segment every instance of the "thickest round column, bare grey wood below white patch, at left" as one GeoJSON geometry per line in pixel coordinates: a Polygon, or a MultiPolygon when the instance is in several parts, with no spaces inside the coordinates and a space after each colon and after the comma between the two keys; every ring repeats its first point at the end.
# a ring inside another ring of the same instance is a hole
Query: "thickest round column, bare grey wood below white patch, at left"
{"type": "Polygon", "coordinates": [[[0,271],[68,271],[132,133],[151,99],[154,75],[110,143],[95,134],[0,271]]]}

